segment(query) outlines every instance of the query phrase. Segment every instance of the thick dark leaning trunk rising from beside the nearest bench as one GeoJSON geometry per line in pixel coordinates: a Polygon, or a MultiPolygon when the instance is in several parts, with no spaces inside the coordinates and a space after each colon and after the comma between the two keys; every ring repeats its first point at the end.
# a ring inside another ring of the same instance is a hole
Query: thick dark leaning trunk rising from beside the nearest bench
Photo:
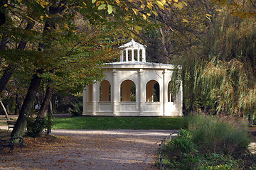
{"type": "Polygon", "coordinates": [[[40,86],[41,79],[41,77],[38,77],[38,74],[33,75],[28,93],[26,94],[26,98],[24,99],[21,107],[21,113],[18,115],[18,120],[14,126],[14,130],[11,132],[11,137],[22,137],[23,131],[26,128],[28,116],[30,115],[33,106],[33,102],[36,99],[36,92],[40,86]]]}

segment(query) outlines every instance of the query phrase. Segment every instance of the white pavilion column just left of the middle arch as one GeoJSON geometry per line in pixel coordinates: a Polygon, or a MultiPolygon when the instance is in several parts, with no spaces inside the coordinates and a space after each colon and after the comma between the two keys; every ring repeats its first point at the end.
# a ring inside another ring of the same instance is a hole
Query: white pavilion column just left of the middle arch
{"type": "Polygon", "coordinates": [[[113,84],[112,84],[112,94],[113,94],[113,100],[112,100],[112,104],[113,104],[113,114],[112,115],[117,115],[117,102],[118,102],[118,93],[117,91],[119,91],[119,87],[117,86],[117,70],[113,69],[112,71],[113,73],[113,84]]]}

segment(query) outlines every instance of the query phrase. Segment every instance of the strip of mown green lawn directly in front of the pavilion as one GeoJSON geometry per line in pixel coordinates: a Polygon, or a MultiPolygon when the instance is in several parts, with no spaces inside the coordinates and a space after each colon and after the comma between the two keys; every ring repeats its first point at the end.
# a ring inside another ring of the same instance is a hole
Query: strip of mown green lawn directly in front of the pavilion
{"type": "Polygon", "coordinates": [[[185,128],[183,117],[72,117],[53,118],[53,129],[170,130],[185,128]]]}

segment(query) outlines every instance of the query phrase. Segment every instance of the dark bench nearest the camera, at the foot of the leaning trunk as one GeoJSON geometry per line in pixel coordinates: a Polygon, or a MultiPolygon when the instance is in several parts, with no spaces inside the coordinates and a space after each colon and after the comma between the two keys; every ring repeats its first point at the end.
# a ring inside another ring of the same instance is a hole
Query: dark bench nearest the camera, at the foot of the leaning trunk
{"type": "Polygon", "coordinates": [[[22,137],[11,137],[8,140],[0,139],[0,147],[1,147],[0,152],[2,152],[4,147],[9,147],[10,148],[9,152],[13,152],[15,146],[20,147],[22,152],[23,145],[24,145],[24,142],[22,137]]]}

